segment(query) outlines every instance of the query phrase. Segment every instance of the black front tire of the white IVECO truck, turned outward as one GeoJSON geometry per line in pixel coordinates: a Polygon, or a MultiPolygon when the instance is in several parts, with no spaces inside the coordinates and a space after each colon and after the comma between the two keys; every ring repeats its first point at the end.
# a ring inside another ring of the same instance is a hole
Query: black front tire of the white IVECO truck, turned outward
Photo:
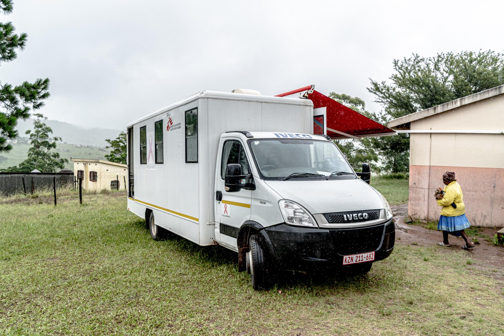
{"type": "Polygon", "coordinates": [[[248,240],[247,271],[250,273],[250,284],[256,291],[271,285],[267,254],[262,243],[261,236],[257,234],[251,235],[248,240]]]}

